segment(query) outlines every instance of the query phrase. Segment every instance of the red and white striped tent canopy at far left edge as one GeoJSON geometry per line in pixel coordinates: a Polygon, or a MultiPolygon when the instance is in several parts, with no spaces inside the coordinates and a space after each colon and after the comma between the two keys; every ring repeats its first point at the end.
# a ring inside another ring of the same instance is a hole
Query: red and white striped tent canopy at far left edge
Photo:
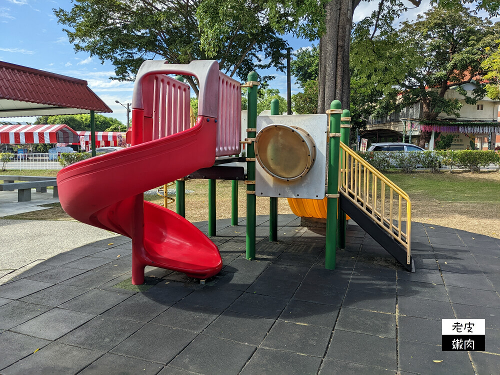
{"type": "Polygon", "coordinates": [[[0,143],[78,143],[67,125],[0,125],[0,143]]]}

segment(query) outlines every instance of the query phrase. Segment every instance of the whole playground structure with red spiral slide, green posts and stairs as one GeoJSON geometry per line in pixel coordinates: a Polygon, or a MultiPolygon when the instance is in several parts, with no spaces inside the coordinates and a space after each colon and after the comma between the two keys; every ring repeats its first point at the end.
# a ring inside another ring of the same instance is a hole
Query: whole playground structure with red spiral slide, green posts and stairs
{"type": "MultiPolygon", "coordinates": [[[[345,141],[348,139],[350,127],[340,128],[342,120],[345,125],[348,124],[348,116],[341,118],[340,102],[332,102],[327,116],[313,115],[321,116],[321,120],[308,117],[309,122],[319,121],[317,134],[313,134],[313,129],[304,130],[294,124],[283,123],[293,122],[290,118],[295,116],[275,116],[274,119],[281,123],[273,122],[273,116],[267,116],[270,117],[267,123],[260,118],[257,127],[258,84],[256,73],[249,73],[248,82],[242,85],[221,73],[216,61],[192,61],[188,65],[145,61],[139,68],[134,85],[132,146],[63,168],[57,175],[62,207],[77,220],[132,238],[133,284],[143,282],[146,265],[204,279],[220,271],[222,260],[217,246],[183,217],[183,177],[198,173],[203,178],[209,178],[208,235],[213,236],[215,179],[233,179],[234,213],[237,212],[237,205],[234,209],[237,179],[245,178],[238,167],[221,164],[245,161],[247,259],[255,258],[256,186],[265,178],[268,180],[267,189],[265,192],[259,190],[258,195],[271,197],[270,241],[277,240],[277,197],[300,196],[300,193],[288,189],[290,184],[297,184],[300,191],[305,191],[302,196],[308,196],[304,188],[314,183],[313,200],[321,202],[326,197],[326,268],[335,268],[336,248],[345,246],[346,212],[411,270],[409,199],[401,189],[340,142],[341,136],[345,141]],[[193,127],[189,86],[167,74],[195,76],[199,83],[198,117],[193,127]],[[247,145],[246,157],[227,157],[240,154],[241,87],[248,88],[248,137],[243,141],[247,145]],[[305,156],[303,165],[293,162],[282,167],[284,161],[276,164],[279,151],[287,145],[279,140],[284,133],[287,134],[286,139],[295,142],[297,150],[301,150],[297,152],[305,156]],[[325,192],[326,138],[330,147],[325,192]],[[257,155],[255,144],[259,150],[257,155]],[[256,159],[265,170],[265,173],[259,171],[257,176],[256,159]],[[168,160],[168,163],[158,160],[168,160]],[[123,168],[127,173],[123,173],[123,168]],[[321,169],[322,174],[319,173],[321,169]],[[307,178],[314,175],[313,170],[317,176],[308,181],[307,178]],[[176,181],[177,212],[143,200],[144,191],[171,181],[176,181]],[[276,186],[281,187],[278,189],[276,186]],[[283,186],[286,188],[283,189],[283,186]],[[386,191],[389,193],[388,203],[386,191]],[[397,207],[393,206],[394,194],[398,195],[397,207]],[[404,207],[403,201],[407,202],[404,207]],[[406,210],[404,215],[403,209],[406,210]],[[408,225],[403,225],[402,218],[408,225]]],[[[277,114],[276,108],[271,108],[271,114],[277,114]]],[[[232,219],[235,224],[234,215],[232,219]]]]}

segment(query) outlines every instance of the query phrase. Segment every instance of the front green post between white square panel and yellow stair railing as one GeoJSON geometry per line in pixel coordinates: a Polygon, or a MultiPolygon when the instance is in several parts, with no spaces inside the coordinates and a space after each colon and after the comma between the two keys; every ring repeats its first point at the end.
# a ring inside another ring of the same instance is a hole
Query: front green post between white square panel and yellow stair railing
{"type": "Polygon", "coordinates": [[[325,268],[335,269],[336,242],[337,242],[337,204],[338,198],[338,156],[340,149],[340,138],[337,134],[340,132],[340,117],[342,104],[339,100],[333,100],[330,104],[330,123],[329,132],[333,136],[329,137],[328,154],[328,183],[326,192],[328,195],[326,202],[326,246],[325,246],[325,268]]]}

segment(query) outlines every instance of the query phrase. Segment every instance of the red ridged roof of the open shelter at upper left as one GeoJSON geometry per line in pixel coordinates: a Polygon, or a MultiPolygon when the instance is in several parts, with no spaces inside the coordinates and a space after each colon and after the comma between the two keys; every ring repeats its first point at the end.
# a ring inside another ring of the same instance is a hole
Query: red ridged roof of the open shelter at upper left
{"type": "Polygon", "coordinates": [[[4,61],[0,61],[0,99],[112,112],[85,80],[4,61]]]}

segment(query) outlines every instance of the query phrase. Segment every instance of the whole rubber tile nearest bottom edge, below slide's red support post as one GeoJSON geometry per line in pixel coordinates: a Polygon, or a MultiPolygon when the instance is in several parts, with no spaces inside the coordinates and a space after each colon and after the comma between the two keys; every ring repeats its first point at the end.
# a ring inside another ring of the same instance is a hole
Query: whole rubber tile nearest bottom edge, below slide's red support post
{"type": "MultiPolygon", "coordinates": [[[[111,352],[166,364],[196,335],[185,329],[146,324],[111,352]]],[[[208,347],[203,349],[207,350],[208,347]]]]}

